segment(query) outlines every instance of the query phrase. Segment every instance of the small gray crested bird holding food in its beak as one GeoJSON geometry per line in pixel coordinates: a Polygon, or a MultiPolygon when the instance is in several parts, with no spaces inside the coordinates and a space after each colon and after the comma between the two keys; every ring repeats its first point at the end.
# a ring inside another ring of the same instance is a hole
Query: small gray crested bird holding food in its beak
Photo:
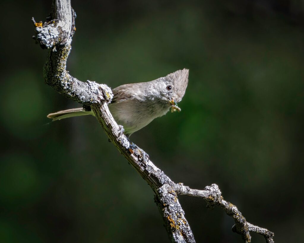
{"type": "MultiPolygon", "coordinates": [[[[185,94],[188,74],[189,70],[183,69],[150,82],[123,84],[114,88],[109,110],[117,124],[121,125],[123,133],[130,137],[154,118],[165,115],[170,108],[172,112],[180,111],[177,103],[185,94]]],[[[58,111],[47,117],[55,121],[81,115],[94,113],[76,108],[58,111]]]]}

